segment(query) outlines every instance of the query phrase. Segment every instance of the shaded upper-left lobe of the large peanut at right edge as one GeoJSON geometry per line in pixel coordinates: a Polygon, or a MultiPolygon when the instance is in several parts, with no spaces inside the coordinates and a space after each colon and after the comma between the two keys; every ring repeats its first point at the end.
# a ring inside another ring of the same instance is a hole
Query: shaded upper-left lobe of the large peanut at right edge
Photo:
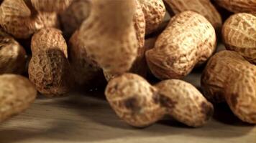
{"type": "Polygon", "coordinates": [[[224,86],[229,84],[229,76],[243,74],[244,69],[254,70],[255,66],[235,51],[220,51],[212,56],[201,77],[205,97],[211,102],[224,102],[224,86]]]}

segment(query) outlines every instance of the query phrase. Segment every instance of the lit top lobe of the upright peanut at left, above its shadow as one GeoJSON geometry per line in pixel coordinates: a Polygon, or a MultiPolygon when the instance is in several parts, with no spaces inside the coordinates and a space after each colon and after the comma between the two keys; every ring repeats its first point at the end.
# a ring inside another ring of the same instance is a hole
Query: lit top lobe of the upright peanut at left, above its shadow
{"type": "Polygon", "coordinates": [[[68,57],[68,46],[63,38],[62,32],[55,28],[44,28],[32,36],[31,51],[37,54],[49,49],[59,49],[68,57]]]}

